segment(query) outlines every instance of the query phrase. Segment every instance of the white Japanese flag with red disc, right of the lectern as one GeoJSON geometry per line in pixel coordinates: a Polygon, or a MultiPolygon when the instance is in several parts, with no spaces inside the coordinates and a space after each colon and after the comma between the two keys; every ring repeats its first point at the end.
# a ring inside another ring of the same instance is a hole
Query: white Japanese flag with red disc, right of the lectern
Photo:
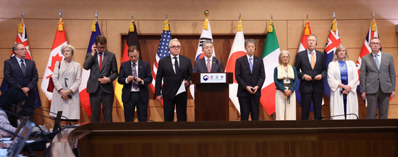
{"type": "Polygon", "coordinates": [[[238,92],[238,82],[235,79],[235,65],[236,59],[246,55],[245,50],[245,37],[243,36],[243,29],[241,28],[241,20],[238,23],[238,29],[234,38],[234,43],[232,43],[231,53],[229,53],[228,62],[226,63],[225,72],[234,73],[234,83],[229,85],[229,99],[234,103],[236,110],[241,113],[241,108],[239,105],[238,97],[236,93],[238,92]]]}

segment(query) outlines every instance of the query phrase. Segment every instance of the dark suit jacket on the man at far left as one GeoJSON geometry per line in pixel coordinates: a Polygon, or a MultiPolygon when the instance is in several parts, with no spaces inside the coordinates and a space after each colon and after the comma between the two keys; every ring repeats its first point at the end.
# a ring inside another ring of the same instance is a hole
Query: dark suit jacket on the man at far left
{"type": "Polygon", "coordinates": [[[9,60],[4,61],[4,80],[10,87],[29,87],[28,98],[36,99],[35,87],[38,82],[38,73],[36,69],[36,63],[33,60],[25,58],[26,74],[23,76],[21,65],[16,60],[16,57],[12,57],[9,60]]]}

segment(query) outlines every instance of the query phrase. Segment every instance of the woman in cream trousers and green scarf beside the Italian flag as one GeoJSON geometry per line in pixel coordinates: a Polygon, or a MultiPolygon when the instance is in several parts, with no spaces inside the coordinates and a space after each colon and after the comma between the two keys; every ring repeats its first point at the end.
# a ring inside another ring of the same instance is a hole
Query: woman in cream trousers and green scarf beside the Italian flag
{"type": "Polygon", "coordinates": [[[287,50],[279,53],[279,64],[273,72],[276,86],[275,109],[276,120],[295,120],[295,87],[297,71],[289,65],[290,54],[287,50]]]}

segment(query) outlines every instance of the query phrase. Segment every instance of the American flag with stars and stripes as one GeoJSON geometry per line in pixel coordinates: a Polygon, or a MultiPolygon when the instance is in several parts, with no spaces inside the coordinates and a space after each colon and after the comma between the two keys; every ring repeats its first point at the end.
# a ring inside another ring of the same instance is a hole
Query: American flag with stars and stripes
{"type": "Polygon", "coordinates": [[[155,93],[155,79],[156,79],[156,74],[157,74],[157,67],[159,60],[166,57],[167,55],[170,55],[169,52],[169,41],[172,40],[172,33],[170,33],[170,26],[168,31],[165,31],[163,29],[162,36],[160,37],[159,41],[159,46],[157,47],[157,54],[155,56],[155,62],[153,63],[153,70],[152,70],[152,84],[150,84],[152,92],[155,93]]]}

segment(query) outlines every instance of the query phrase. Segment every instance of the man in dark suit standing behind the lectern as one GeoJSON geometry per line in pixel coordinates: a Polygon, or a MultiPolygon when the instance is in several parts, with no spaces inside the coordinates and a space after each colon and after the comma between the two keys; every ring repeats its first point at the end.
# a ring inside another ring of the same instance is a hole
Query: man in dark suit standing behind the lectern
{"type": "Polygon", "coordinates": [[[211,40],[204,40],[201,43],[201,52],[204,58],[195,60],[193,72],[223,72],[221,60],[216,59],[213,55],[214,44],[211,40]]]}

